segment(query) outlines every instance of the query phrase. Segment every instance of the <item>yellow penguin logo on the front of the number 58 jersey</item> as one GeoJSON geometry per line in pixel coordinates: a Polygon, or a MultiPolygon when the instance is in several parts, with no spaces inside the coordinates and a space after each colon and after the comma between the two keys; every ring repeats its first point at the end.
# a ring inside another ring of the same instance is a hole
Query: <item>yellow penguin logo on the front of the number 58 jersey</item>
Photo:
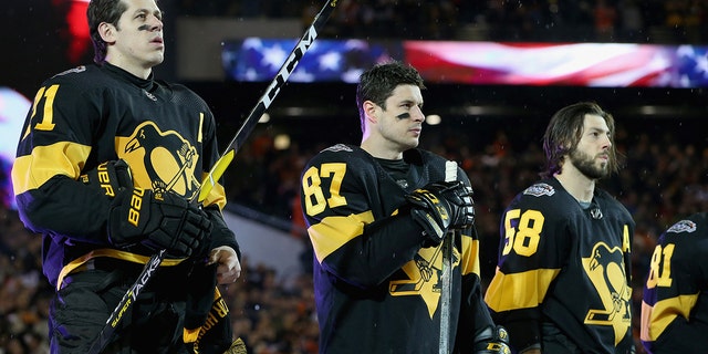
{"type": "Polygon", "coordinates": [[[620,247],[610,248],[598,242],[583,268],[602,299],[602,309],[591,309],[585,323],[610,325],[615,332],[615,345],[624,339],[631,326],[632,289],[627,285],[624,253],[620,247]]]}

